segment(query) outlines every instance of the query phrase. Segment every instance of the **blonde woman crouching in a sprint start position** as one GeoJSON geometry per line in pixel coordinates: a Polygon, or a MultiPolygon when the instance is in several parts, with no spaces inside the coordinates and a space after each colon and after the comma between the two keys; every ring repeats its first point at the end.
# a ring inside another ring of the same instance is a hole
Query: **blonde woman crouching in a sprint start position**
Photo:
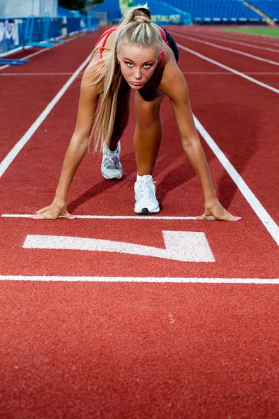
{"type": "Polygon", "coordinates": [[[84,71],[77,124],[63,162],[55,198],[52,205],[36,212],[32,216],[34,219],[75,218],[67,211],[66,197],[92,136],[94,149],[103,148],[103,176],[106,179],[121,178],[119,140],[128,124],[131,89],[135,90],[137,115],[134,135],[137,161],[135,212],[156,214],[160,211],[152,173],[162,136],[160,105],[167,95],[172,103],[183,149],[204,191],[205,211],[198,218],[240,219],[229,214],[216,198],[193,122],[187,84],[176,64],[175,47],[169,34],[151,23],[149,9],[141,6],[130,9],[119,27],[103,34],[84,71]],[[172,48],[167,45],[166,36],[172,48]],[[100,109],[95,118],[99,98],[100,109]]]}

